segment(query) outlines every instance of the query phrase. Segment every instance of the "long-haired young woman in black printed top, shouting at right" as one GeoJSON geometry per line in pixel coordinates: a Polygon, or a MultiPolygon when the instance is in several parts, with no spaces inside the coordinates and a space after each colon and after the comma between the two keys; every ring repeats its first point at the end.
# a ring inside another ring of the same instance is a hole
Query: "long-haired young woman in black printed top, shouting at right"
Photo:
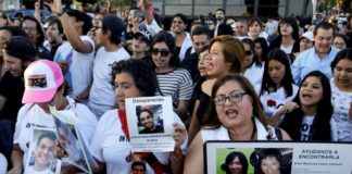
{"type": "Polygon", "coordinates": [[[280,124],[293,140],[336,139],[330,83],[322,72],[313,71],[304,77],[293,102],[297,109],[288,111],[280,124]]]}

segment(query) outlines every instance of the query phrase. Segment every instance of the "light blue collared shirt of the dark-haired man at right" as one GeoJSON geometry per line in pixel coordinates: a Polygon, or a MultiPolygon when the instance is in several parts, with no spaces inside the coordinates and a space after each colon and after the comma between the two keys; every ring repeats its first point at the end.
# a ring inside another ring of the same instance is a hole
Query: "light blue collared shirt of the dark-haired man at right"
{"type": "Polygon", "coordinates": [[[331,47],[325,58],[319,58],[315,47],[303,51],[291,65],[292,76],[296,84],[300,84],[303,77],[315,70],[324,73],[328,78],[332,78],[330,64],[340,50],[331,47]]]}

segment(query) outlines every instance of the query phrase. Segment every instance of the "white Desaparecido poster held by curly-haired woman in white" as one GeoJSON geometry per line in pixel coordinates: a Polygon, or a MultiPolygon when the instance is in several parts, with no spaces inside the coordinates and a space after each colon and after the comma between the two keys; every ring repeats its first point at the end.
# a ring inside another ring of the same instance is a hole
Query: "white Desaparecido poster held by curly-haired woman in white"
{"type": "Polygon", "coordinates": [[[171,97],[126,99],[126,114],[134,152],[174,150],[175,113],[171,97]]]}

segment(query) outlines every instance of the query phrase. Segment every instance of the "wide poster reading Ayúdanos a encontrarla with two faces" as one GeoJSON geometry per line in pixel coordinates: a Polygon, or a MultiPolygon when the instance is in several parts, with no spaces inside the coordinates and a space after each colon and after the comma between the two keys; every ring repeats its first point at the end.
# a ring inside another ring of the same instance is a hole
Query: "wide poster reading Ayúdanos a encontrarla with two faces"
{"type": "Polygon", "coordinates": [[[206,173],[351,174],[352,144],[206,141],[206,173]]]}

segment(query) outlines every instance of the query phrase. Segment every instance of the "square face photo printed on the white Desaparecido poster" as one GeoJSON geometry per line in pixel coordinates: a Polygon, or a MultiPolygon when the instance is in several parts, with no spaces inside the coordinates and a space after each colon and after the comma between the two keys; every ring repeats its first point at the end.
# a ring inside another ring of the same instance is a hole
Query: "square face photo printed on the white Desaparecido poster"
{"type": "Polygon", "coordinates": [[[164,133],[162,107],[162,104],[136,107],[139,134],[164,133]]]}

